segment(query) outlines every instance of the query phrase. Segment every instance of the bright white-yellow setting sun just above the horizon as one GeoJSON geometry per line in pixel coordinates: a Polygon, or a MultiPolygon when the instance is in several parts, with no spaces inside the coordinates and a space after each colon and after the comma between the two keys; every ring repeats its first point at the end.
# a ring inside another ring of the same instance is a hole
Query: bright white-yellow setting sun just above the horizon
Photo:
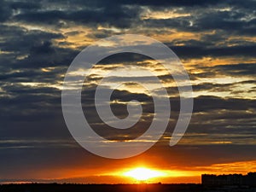
{"type": "Polygon", "coordinates": [[[123,175],[125,177],[135,178],[137,181],[147,181],[149,178],[153,177],[164,177],[166,173],[144,167],[137,167],[128,172],[124,172],[123,175]]]}

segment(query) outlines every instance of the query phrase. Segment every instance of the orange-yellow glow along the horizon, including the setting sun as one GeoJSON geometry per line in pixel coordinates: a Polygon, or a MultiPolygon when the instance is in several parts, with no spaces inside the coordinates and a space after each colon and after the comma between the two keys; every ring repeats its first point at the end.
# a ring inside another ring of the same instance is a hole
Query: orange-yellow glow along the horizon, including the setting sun
{"type": "MultiPolygon", "coordinates": [[[[237,161],[208,166],[182,165],[166,166],[163,161],[158,161],[161,166],[137,164],[127,166],[127,162],[115,167],[102,166],[98,169],[76,166],[72,169],[51,169],[41,172],[27,173],[25,177],[13,178],[11,183],[43,182],[43,183],[201,183],[201,174],[247,174],[256,172],[256,161],[237,161]],[[168,168],[167,168],[168,167],[168,168]],[[33,178],[32,180],[30,180],[33,178]]],[[[3,182],[2,182],[3,183],[3,182]]]]}

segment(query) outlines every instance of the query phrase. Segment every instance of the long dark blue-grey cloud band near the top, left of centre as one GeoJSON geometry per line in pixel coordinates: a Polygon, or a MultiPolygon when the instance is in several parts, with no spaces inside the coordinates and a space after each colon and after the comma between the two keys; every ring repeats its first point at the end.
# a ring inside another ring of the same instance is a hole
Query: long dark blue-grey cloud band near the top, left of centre
{"type": "Polygon", "coordinates": [[[113,8],[102,7],[99,9],[79,10],[44,10],[29,11],[15,16],[15,20],[25,22],[55,24],[61,20],[80,22],[86,25],[105,24],[121,28],[131,26],[131,22],[137,18],[139,8],[128,8],[113,4],[113,8]]]}

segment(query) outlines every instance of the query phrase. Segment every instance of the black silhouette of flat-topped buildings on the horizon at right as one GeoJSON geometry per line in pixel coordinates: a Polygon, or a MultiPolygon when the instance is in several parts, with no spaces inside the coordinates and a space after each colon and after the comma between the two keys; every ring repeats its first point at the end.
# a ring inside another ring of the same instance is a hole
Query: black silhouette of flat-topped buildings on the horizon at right
{"type": "Polygon", "coordinates": [[[230,175],[201,175],[203,185],[247,185],[256,186],[256,172],[248,172],[247,175],[230,174],[230,175]]]}

